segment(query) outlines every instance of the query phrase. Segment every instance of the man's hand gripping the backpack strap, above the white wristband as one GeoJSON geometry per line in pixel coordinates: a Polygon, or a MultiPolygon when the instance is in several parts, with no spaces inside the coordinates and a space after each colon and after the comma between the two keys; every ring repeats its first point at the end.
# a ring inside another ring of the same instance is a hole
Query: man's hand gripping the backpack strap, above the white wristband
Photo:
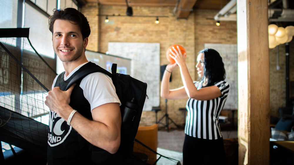
{"type": "MultiPolygon", "coordinates": [[[[71,85],[68,90],[62,91],[60,87],[54,87],[48,92],[45,104],[50,108],[51,111],[56,112],[60,117],[67,119],[65,116],[67,113],[63,113],[62,110],[68,109],[69,102],[71,100],[71,92],[73,91],[76,84],[71,85]],[[64,114],[64,115],[63,115],[64,114]]],[[[70,113],[70,112],[69,112],[70,113]]]]}

